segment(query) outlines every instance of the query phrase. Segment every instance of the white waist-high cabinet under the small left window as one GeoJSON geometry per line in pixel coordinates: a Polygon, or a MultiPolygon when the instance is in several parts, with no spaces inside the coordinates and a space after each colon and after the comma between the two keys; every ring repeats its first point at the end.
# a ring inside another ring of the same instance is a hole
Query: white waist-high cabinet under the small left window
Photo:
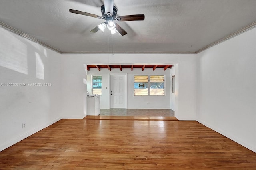
{"type": "Polygon", "coordinates": [[[87,115],[98,116],[100,114],[100,95],[87,97],[87,115]]]}

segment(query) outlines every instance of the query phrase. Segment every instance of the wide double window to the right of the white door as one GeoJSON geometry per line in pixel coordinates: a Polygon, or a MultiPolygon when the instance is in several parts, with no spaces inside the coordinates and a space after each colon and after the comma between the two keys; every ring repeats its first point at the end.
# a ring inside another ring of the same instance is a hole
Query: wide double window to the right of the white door
{"type": "Polygon", "coordinates": [[[135,75],[134,96],[164,95],[164,75],[135,75]]]}

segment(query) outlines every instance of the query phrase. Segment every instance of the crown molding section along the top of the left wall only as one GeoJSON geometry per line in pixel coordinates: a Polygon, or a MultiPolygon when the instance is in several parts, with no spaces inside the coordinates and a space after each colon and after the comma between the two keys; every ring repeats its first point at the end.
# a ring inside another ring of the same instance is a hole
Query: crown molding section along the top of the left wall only
{"type": "Polygon", "coordinates": [[[26,38],[26,39],[28,39],[28,40],[30,40],[30,41],[32,41],[32,42],[38,43],[38,44],[40,44],[40,45],[42,45],[42,46],[44,46],[44,47],[47,47],[47,48],[49,48],[49,49],[52,49],[53,51],[56,51],[57,53],[61,53],[60,50],[58,50],[58,49],[56,49],[56,48],[54,48],[54,47],[52,47],[52,46],[50,46],[50,45],[48,45],[48,44],[46,44],[46,43],[40,42],[40,41],[37,40],[36,38],[34,38],[34,37],[32,37],[32,36],[30,36],[30,35],[28,35],[28,34],[25,34],[24,32],[21,32],[21,31],[19,31],[19,30],[13,28],[13,27],[11,27],[11,26],[8,26],[7,24],[4,24],[3,22],[0,22],[0,27],[2,27],[2,28],[4,28],[5,30],[8,30],[8,31],[10,31],[10,32],[12,32],[12,33],[14,33],[14,34],[17,34],[18,36],[21,36],[21,37],[23,37],[23,38],[26,38]]]}

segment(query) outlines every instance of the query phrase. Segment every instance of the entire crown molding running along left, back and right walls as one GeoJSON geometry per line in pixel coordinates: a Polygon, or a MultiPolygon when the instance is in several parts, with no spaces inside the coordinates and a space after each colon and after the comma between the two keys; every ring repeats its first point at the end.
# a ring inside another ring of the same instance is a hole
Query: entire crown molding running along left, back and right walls
{"type": "MultiPolygon", "coordinates": [[[[32,36],[29,36],[28,34],[25,34],[11,26],[8,26],[7,24],[4,24],[3,22],[0,22],[0,27],[14,33],[14,34],[17,34],[18,36],[21,36],[23,38],[26,38],[32,42],[35,42],[35,43],[38,43],[44,47],[47,47],[49,49],[52,49],[53,51],[56,51],[57,53],[60,53],[60,54],[109,54],[109,53],[112,53],[111,51],[77,51],[77,52],[63,52],[63,51],[60,51],[46,43],[43,43],[43,42],[40,42],[39,40],[37,40],[36,38],[32,37],[32,36]]],[[[214,42],[214,43],[211,43],[210,45],[207,45],[206,47],[202,48],[202,49],[199,49],[198,51],[114,51],[114,54],[121,54],[121,53],[128,53],[128,54],[198,54],[202,51],[205,51],[206,49],[209,49],[215,45],[218,45],[219,43],[222,43],[224,41],[227,41],[229,40],[230,38],[234,38],[246,31],[249,31],[253,28],[256,27],[256,22],[253,22],[252,24],[249,24],[248,26],[245,26],[244,28],[241,28],[240,30],[214,42]]]]}

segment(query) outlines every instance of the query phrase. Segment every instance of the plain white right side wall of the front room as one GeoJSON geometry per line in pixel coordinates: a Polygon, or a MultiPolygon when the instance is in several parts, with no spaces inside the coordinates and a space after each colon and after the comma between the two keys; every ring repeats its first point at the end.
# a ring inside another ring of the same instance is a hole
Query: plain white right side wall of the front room
{"type": "Polygon", "coordinates": [[[197,57],[197,120],[256,152],[256,28],[197,57]]]}

